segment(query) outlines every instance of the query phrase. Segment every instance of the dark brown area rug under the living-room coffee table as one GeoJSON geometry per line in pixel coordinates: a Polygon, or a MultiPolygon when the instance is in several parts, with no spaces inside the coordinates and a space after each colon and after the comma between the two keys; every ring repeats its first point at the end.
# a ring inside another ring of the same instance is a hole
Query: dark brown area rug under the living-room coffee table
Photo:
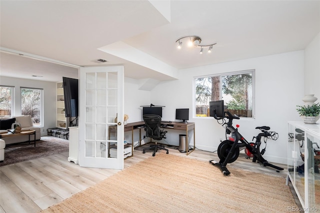
{"type": "Polygon", "coordinates": [[[0,162],[0,167],[14,164],[21,161],[42,158],[69,150],[69,141],[56,137],[41,137],[40,140],[30,144],[21,143],[8,145],[4,148],[4,161],[0,162]]]}

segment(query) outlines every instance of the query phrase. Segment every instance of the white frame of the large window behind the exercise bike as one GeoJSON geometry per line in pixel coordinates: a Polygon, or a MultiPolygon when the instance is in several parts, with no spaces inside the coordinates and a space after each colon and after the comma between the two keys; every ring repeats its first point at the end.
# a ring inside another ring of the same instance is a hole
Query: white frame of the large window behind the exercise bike
{"type": "MultiPolygon", "coordinates": [[[[241,119],[255,119],[255,69],[247,69],[247,70],[241,70],[241,71],[232,71],[232,72],[223,72],[223,73],[214,73],[214,74],[208,74],[208,75],[199,75],[193,77],[193,98],[192,98],[192,118],[201,118],[201,119],[213,119],[213,117],[209,116],[196,116],[196,79],[198,78],[208,78],[208,77],[216,77],[219,76],[220,82],[222,76],[228,76],[228,75],[240,75],[240,74],[247,74],[251,73],[252,82],[252,117],[241,117],[241,119]]],[[[222,83],[219,85],[219,95],[222,97],[222,83]]],[[[223,100],[223,99],[222,99],[223,100]]]]}

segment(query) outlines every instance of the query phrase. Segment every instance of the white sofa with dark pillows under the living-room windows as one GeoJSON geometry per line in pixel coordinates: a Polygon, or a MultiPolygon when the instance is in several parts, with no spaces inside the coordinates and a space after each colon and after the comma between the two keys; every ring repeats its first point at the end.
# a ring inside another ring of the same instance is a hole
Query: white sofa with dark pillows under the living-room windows
{"type": "MultiPolygon", "coordinates": [[[[33,126],[32,119],[30,115],[14,116],[15,123],[19,123],[22,131],[26,130],[35,130],[35,140],[40,140],[40,127],[33,126]]],[[[11,119],[11,117],[0,117],[0,120],[11,119]]],[[[14,120],[14,119],[12,119],[14,120]]],[[[11,126],[12,128],[13,126],[11,126]]],[[[1,128],[2,129],[2,128],[1,128]]],[[[0,130],[0,133],[6,133],[6,130],[0,130]]],[[[5,144],[14,144],[19,142],[25,142],[29,140],[28,135],[21,135],[15,137],[4,137],[2,140],[5,141],[5,144]]],[[[30,141],[34,140],[34,135],[30,135],[30,141]]]]}

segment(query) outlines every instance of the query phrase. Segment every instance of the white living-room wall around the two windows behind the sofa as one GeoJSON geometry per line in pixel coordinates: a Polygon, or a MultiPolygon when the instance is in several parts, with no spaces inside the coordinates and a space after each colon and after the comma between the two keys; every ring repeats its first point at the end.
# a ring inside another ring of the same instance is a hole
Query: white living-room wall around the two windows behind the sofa
{"type": "Polygon", "coordinates": [[[47,129],[55,127],[55,103],[56,103],[56,83],[48,81],[28,80],[21,78],[0,77],[0,85],[14,86],[14,116],[21,115],[20,87],[30,87],[43,89],[43,127],[41,136],[47,135],[47,129]]]}

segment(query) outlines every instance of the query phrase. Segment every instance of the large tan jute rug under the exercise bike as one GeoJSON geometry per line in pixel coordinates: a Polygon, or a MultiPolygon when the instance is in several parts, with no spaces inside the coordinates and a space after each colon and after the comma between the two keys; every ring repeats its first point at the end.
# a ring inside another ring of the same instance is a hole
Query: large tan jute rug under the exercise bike
{"type": "Polygon", "coordinates": [[[157,153],[42,213],[287,213],[285,179],[157,153]]]}

